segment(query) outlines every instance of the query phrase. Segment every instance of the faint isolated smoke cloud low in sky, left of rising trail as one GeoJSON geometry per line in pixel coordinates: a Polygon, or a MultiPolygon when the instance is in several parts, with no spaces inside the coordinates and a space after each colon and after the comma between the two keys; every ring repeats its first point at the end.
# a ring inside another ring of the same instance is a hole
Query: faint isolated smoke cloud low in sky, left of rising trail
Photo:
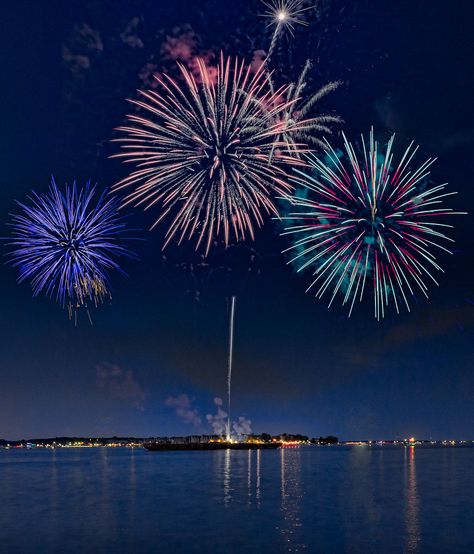
{"type": "Polygon", "coordinates": [[[96,366],[97,386],[112,398],[124,400],[143,411],[145,392],[133,376],[133,371],[124,370],[118,365],[103,363],[96,366]]]}

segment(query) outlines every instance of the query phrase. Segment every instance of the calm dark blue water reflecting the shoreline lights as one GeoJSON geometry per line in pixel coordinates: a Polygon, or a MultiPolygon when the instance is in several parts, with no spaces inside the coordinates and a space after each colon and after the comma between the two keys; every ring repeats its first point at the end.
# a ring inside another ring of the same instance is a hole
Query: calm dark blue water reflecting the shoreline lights
{"type": "Polygon", "coordinates": [[[0,551],[473,552],[474,448],[0,450],[0,551]]]}

